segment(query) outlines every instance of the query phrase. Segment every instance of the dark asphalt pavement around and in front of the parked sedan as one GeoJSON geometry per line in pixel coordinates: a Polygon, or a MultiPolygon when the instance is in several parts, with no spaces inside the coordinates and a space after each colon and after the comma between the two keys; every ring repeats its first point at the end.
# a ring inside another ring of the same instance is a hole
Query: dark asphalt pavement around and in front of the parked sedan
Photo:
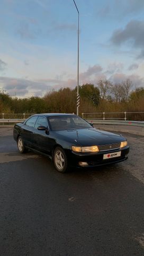
{"type": "Polygon", "coordinates": [[[144,255],[144,137],[129,160],[61,174],[0,129],[1,256],[144,255]]]}

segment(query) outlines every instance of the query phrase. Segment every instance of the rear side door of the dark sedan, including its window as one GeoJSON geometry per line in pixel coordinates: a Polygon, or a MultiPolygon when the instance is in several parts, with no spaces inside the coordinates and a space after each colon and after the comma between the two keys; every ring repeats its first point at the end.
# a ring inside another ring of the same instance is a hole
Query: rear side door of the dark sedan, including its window
{"type": "Polygon", "coordinates": [[[22,126],[21,137],[26,146],[33,147],[34,125],[37,119],[38,116],[30,117],[22,126]]]}

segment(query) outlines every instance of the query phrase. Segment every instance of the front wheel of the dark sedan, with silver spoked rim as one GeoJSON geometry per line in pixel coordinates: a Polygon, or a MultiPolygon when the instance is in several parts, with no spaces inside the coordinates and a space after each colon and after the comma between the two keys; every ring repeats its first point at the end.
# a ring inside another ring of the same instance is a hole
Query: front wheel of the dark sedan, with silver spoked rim
{"type": "Polygon", "coordinates": [[[56,147],[53,152],[53,163],[58,172],[64,173],[68,170],[67,156],[61,147],[56,147]]]}

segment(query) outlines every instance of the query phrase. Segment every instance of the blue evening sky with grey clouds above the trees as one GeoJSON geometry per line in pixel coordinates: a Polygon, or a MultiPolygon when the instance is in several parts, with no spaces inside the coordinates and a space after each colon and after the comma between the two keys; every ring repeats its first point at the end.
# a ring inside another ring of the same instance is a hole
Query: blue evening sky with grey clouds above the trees
{"type": "MultiPolygon", "coordinates": [[[[144,86],[144,1],[75,0],[79,84],[144,86]]],[[[0,90],[20,98],[77,85],[73,0],[1,0],[0,90]]]]}

